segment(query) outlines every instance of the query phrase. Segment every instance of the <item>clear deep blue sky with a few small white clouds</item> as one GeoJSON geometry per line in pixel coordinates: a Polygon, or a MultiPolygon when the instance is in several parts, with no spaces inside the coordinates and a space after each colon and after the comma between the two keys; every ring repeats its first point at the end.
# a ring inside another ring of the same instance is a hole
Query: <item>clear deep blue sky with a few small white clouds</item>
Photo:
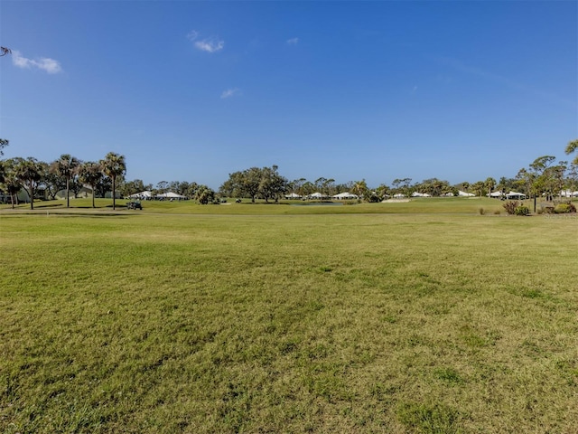
{"type": "Polygon", "coordinates": [[[5,157],[126,178],[513,177],[578,138],[578,2],[0,0],[5,157]]]}

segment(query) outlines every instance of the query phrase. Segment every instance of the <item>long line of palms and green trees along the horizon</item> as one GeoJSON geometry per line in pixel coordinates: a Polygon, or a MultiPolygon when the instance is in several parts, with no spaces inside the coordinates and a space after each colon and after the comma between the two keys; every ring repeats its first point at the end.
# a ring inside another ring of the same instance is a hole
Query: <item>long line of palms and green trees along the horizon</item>
{"type": "MultiPolygon", "coordinates": [[[[6,139],[1,139],[0,156],[3,148],[8,146],[6,139]]],[[[567,155],[578,149],[578,139],[568,143],[564,151],[567,155]]],[[[150,190],[154,194],[173,192],[195,199],[199,203],[215,203],[221,198],[247,198],[252,202],[263,199],[267,203],[278,202],[285,195],[294,193],[307,196],[322,193],[329,197],[338,193],[355,193],[366,202],[379,202],[388,196],[403,194],[410,196],[414,192],[430,196],[457,195],[459,191],[483,196],[492,192],[506,193],[509,190],[521,190],[527,197],[545,196],[552,199],[564,189],[576,191],[578,187],[578,156],[573,161],[558,161],[555,156],[540,156],[527,167],[521,168],[513,178],[501,177],[498,181],[489,177],[474,183],[464,181],[450,184],[438,178],[425,179],[413,183],[411,178],[397,178],[391,185],[380,184],[369,187],[365,179],[336,183],[333,178],[319,177],[314,181],[305,178],[288,180],[279,173],[279,167],[250,167],[228,175],[227,181],[215,192],[210,187],[196,182],[161,181],[144,184],[140,179],[126,181],[126,159],[114,152],[98,162],[83,162],[70,154],[63,154],[51,163],[38,161],[33,157],[14,157],[0,160],[0,191],[8,196],[14,206],[17,193],[24,189],[30,198],[36,197],[42,188],[43,195],[55,199],[58,192],[65,191],[66,206],[70,207],[70,193],[74,197],[83,186],[89,185],[92,191],[92,206],[95,197],[105,197],[111,192],[113,209],[116,209],[118,195],[123,197],[150,190]]],[[[33,209],[31,200],[31,209],[33,209]]]]}

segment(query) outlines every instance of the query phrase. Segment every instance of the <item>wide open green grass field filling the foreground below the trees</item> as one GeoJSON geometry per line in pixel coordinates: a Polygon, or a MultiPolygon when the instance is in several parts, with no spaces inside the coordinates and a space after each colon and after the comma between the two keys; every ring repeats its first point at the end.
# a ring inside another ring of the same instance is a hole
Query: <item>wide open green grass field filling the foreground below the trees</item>
{"type": "Polygon", "coordinates": [[[89,203],[0,212],[0,432],[578,432],[575,214],[89,203]]]}

